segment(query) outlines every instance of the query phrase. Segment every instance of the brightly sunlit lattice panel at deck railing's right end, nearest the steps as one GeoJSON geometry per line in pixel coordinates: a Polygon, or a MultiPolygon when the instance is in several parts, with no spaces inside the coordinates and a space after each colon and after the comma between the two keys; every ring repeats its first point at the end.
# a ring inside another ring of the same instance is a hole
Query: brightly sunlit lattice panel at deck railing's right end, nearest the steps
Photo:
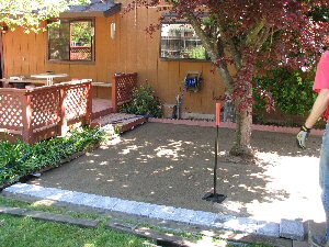
{"type": "Polygon", "coordinates": [[[73,120],[76,117],[87,114],[88,108],[88,93],[87,86],[75,86],[67,90],[65,98],[66,117],[73,120]]]}

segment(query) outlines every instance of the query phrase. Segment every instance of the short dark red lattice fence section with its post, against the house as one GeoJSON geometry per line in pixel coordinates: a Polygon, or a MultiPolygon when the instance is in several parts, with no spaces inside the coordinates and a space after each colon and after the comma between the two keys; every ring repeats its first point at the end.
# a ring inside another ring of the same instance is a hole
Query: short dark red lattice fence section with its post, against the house
{"type": "Polygon", "coordinates": [[[112,106],[117,112],[120,105],[133,100],[133,91],[137,87],[137,72],[116,74],[112,86],[112,106]]]}

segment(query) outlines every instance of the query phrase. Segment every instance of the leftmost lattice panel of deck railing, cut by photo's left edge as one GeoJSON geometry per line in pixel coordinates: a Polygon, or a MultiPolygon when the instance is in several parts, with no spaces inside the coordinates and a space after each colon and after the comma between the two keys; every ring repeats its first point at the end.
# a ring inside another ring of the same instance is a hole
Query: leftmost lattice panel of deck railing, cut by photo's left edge
{"type": "Polygon", "coordinates": [[[23,127],[23,110],[19,96],[0,93],[0,127],[18,130],[23,127]]]}

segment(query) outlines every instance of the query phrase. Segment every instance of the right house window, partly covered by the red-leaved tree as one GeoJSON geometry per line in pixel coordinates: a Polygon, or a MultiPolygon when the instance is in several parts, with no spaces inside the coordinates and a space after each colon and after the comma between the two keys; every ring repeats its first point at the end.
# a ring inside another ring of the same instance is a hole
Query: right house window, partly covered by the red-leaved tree
{"type": "Polygon", "coordinates": [[[201,40],[191,24],[161,25],[161,58],[170,59],[208,59],[201,40]]]}

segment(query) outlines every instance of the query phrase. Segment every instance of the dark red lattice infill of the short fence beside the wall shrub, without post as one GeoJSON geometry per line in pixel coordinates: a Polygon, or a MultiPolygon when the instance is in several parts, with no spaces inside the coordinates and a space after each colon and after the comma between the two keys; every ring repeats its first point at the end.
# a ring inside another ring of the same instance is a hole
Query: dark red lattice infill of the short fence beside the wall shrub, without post
{"type": "Polygon", "coordinates": [[[133,99],[133,90],[137,85],[137,75],[123,75],[116,77],[117,82],[117,104],[131,101],[133,99]]]}

